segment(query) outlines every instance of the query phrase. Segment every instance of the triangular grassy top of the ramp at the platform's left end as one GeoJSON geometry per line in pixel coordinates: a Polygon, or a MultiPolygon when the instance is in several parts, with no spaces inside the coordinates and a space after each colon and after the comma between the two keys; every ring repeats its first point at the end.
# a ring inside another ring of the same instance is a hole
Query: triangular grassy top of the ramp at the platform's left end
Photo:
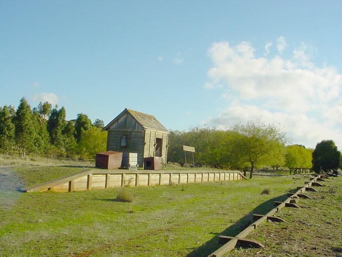
{"type": "Polygon", "coordinates": [[[13,167],[15,174],[25,183],[27,187],[88,169],[90,168],[67,166],[23,165],[13,167]]]}

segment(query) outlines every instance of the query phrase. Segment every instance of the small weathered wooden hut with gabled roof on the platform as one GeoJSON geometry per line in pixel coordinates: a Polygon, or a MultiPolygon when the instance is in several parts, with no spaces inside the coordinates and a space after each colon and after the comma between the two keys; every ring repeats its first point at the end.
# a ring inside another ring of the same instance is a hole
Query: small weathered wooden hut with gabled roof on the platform
{"type": "Polygon", "coordinates": [[[103,129],[108,131],[107,151],[138,154],[138,164],[145,157],[167,161],[169,131],[152,115],[125,109],[103,129]]]}

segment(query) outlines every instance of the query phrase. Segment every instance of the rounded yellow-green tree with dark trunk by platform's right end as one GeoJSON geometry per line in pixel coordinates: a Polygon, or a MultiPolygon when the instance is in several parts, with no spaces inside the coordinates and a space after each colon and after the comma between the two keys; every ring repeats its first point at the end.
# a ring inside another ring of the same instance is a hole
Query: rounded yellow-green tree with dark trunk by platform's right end
{"type": "Polygon", "coordinates": [[[257,165],[269,165],[279,155],[285,155],[285,133],[275,125],[264,124],[259,120],[236,124],[231,131],[240,136],[235,140],[235,152],[250,164],[250,179],[257,165]]]}

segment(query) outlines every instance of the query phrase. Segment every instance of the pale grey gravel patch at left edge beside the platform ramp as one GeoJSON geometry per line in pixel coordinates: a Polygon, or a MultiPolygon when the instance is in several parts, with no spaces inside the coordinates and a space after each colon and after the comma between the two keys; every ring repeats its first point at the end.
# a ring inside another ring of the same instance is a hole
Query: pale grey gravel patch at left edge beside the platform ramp
{"type": "Polygon", "coordinates": [[[23,186],[11,167],[0,166],[0,208],[10,208],[21,194],[18,189],[23,186]]]}

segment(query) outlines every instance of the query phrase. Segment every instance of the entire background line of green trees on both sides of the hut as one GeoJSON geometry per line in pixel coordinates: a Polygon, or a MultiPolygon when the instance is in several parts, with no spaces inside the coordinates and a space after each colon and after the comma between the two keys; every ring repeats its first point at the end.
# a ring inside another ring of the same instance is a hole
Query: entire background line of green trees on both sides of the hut
{"type": "MultiPolygon", "coordinates": [[[[31,108],[23,97],[17,109],[0,107],[0,149],[3,153],[18,151],[48,156],[93,159],[97,152],[106,150],[107,131],[104,122],[93,123],[85,114],[66,120],[66,110],[52,108],[40,102],[31,108]]],[[[190,131],[171,131],[168,162],[184,165],[183,145],[196,149],[197,166],[250,171],[256,167],[287,167],[290,174],[314,170],[331,170],[339,167],[341,153],[334,141],[323,140],[314,149],[289,144],[281,128],[260,121],[235,124],[225,130],[198,126],[190,131]]],[[[189,158],[189,160],[192,160],[189,158]]]]}

